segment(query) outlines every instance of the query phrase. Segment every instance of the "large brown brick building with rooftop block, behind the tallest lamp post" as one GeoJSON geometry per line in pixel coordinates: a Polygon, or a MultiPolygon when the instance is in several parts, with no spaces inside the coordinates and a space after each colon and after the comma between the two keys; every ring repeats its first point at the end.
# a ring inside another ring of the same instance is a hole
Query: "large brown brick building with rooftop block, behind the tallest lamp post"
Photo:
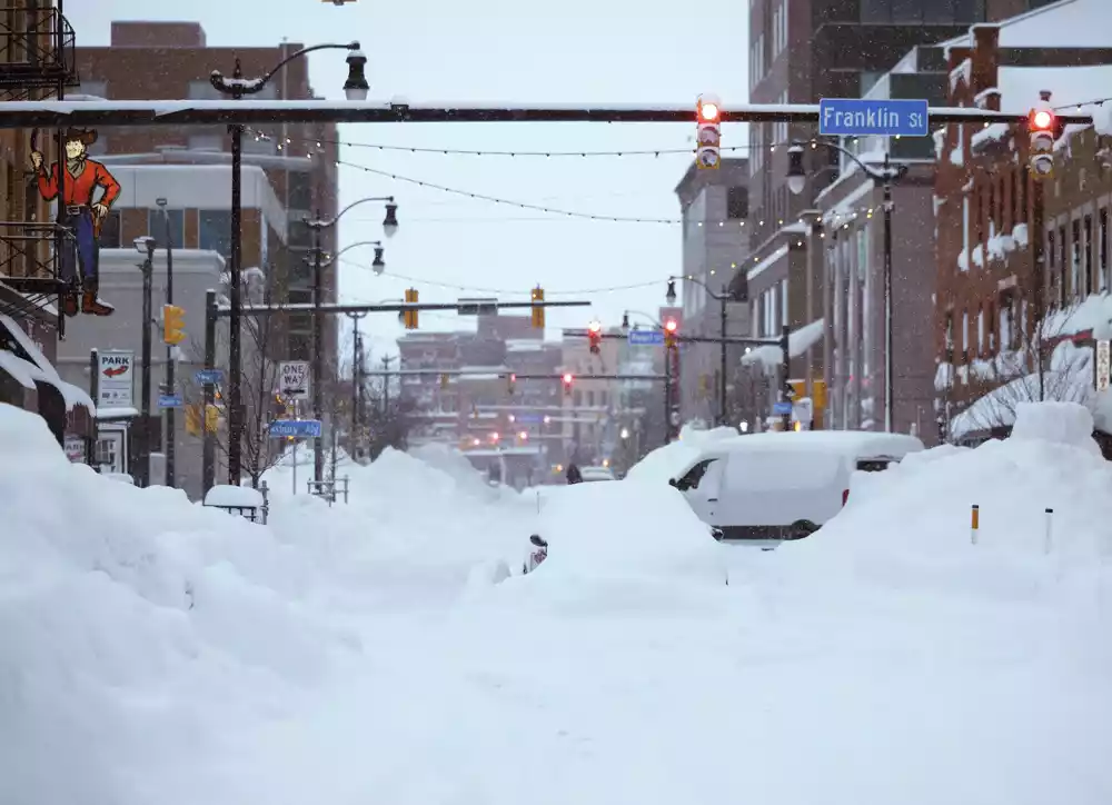
{"type": "MultiPolygon", "coordinates": [[[[205,30],[197,22],[118,21],[112,22],[111,40],[107,47],[78,49],[79,91],[110,100],[215,100],[224,96],[209,81],[214,69],[231,77],[238,59],[244,74],[262,76],[301,48],[295,42],[275,47],[211,48],[207,46],[205,30]],[[151,69],[151,64],[157,64],[158,69],[151,69]]],[[[288,62],[260,92],[251,97],[260,100],[314,98],[307,59],[288,62]]],[[[128,155],[135,161],[177,165],[230,161],[226,127],[119,128],[99,133],[96,152],[113,158],[122,159],[122,155],[128,155]]],[[[304,220],[316,215],[329,218],[337,212],[336,160],[339,146],[336,140],[334,123],[259,126],[244,138],[244,165],[258,166],[266,171],[287,216],[281,229],[289,232],[289,251],[268,255],[272,269],[268,274],[275,288],[280,288],[281,295],[294,304],[312,301],[312,277],[305,259],[312,244],[304,220]]],[[[112,163],[119,165],[119,159],[112,163]]],[[[230,197],[230,189],[227,185],[225,188],[230,197]]],[[[172,187],[167,187],[162,195],[173,202],[172,187]]],[[[227,232],[224,242],[230,244],[230,221],[210,221],[214,228],[224,227],[227,232]]],[[[150,233],[156,235],[153,231],[150,233]]],[[[321,230],[320,236],[325,251],[335,254],[336,227],[321,230]]],[[[227,250],[222,254],[228,257],[227,250]]],[[[324,301],[335,301],[335,265],[326,267],[322,285],[324,301]]],[[[311,315],[290,314],[287,321],[289,342],[286,351],[304,358],[307,345],[311,342],[311,315]]],[[[328,350],[326,362],[332,369],[337,332],[338,322],[329,317],[325,321],[324,342],[328,350]]]]}

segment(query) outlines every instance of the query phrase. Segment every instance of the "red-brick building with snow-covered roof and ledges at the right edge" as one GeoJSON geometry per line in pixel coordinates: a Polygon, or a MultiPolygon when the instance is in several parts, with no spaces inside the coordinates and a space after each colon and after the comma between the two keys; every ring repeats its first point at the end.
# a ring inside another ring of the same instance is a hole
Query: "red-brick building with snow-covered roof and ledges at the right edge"
{"type": "MultiPolygon", "coordinates": [[[[1098,0],[1068,0],[947,42],[953,106],[1024,113],[1108,95],[1112,36],[1098,0]]],[[[1112,142],[1100,127],[1068,127],[1054,172],[1035,180],[1022,127],[947,126],[937,137],[939,424],[950,439],[1006,430],[1017,402],[1083,401],[1092,339],[1112,320],[1109,218],[1112,142]]]]}

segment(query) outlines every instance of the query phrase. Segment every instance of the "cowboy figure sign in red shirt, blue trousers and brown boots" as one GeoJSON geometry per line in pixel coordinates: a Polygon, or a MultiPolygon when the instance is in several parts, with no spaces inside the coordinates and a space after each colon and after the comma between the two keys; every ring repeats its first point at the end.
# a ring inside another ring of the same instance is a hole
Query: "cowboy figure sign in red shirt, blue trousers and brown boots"
{"type": "MultiPolygon", "coordinates": [[[[108,210],[120,196],[120,183],[100,162],[89,159],[89,146],[97,141],[97,132],[90,129],[68,129],[66,131],[66,178],[62,183],[64,198],[59,222],[69,227],[77,240],[77,255],[63,250],[60,255],[61,279],[70,284],[62,295],[62,310],[67,316],[77,316],[77,268],[81,269],[81,311],[96,316],[108,316],[115,308],[102,301],[97,292],[100,282],[100,228],[108,218],[108,210]],[[99,198],[97,190],[100,189],[99,198]],[[75,261],[75,257],[77,258],[75,261]],[[75,265],[76,262],[76,265],[75,265]]],[[[47,201],[58,198],[58,162],[48,172],[42,163],[42,153],[31,151],[31,165],[39,180],[39,192],[47,201]]]]}

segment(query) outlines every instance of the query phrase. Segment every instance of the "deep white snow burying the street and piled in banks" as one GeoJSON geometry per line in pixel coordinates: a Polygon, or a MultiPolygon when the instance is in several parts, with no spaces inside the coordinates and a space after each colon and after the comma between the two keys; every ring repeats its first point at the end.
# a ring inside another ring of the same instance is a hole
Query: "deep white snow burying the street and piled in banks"
{"type": "Polygon", "coordinates": [[[761,551],[666,486],[538,516],[448,453],[331,509],[280,468],[254,526],[0,406],[0,802],[1103,805],[1112,470],[1017,431],[761,551]]]}

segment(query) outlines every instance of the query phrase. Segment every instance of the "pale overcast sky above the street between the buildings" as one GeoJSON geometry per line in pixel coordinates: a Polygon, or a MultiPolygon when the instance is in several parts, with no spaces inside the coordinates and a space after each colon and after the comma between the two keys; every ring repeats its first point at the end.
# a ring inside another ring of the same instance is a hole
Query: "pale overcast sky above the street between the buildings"
{"type": "MultiPolygon", "coordinates": [[[[208,43],[222,47],[270,46],[284,37],[306,44],[359,39],[369,59],[371,99],[668,102],[691,105],[694,119],[701,92],[717,93],[727,106],[747,99],[747,9],[745,2],[662,0],[545,7],[509,0],[355,0],[344,7],[320,0],[67,0],[64,13],[78,46],[108,44],[112,20],[138,19],[196,20],[208,43]]],[[[317,92],[342,98],[344,54],[309,58],[317,92]]],[[[364,125],[341,127],[340,139],[480,151],[619,151],[686,149],[693,133],[694,123],[364,125]]],[[[723,145],[743,145],[744,136],[741,126],[726,127],[723,145]]],[[[668,219],[678,218],[674,188],[692,159],[445,156],[357,146],[342,153],[347,162],[469,192],[577,213],[668,219]]],[[[555,338],[557,328],[583,327],[592,318],[617,325],[627,308],[652,312],[663,304],[666,278],[679,272],[675,223],[545,215],[341,168],[341,205],[385,195],[397,197],[401,225],[387,244],[387,275],[365,268],[369,248],[348,251],[340,271],[345,299],[399,298],[413,286],[421,301],[490,296],[495,289],[502,300],[524,300],[538,282],[549,299],[589,299],[592,309],[549,311],[548,337],[555,338]]],[[[371,205],[353,210],[340,225],[340,245],[378,239],[380,221],[371,205]]],[[[421,314],[420,325],[468,326],[454,315],[431,314],[421,314]]],[[[365,318],[364,329],[374,334],[378,356],[394,351],[394,339],[404,332],[390,316],[365,318]]]]}

